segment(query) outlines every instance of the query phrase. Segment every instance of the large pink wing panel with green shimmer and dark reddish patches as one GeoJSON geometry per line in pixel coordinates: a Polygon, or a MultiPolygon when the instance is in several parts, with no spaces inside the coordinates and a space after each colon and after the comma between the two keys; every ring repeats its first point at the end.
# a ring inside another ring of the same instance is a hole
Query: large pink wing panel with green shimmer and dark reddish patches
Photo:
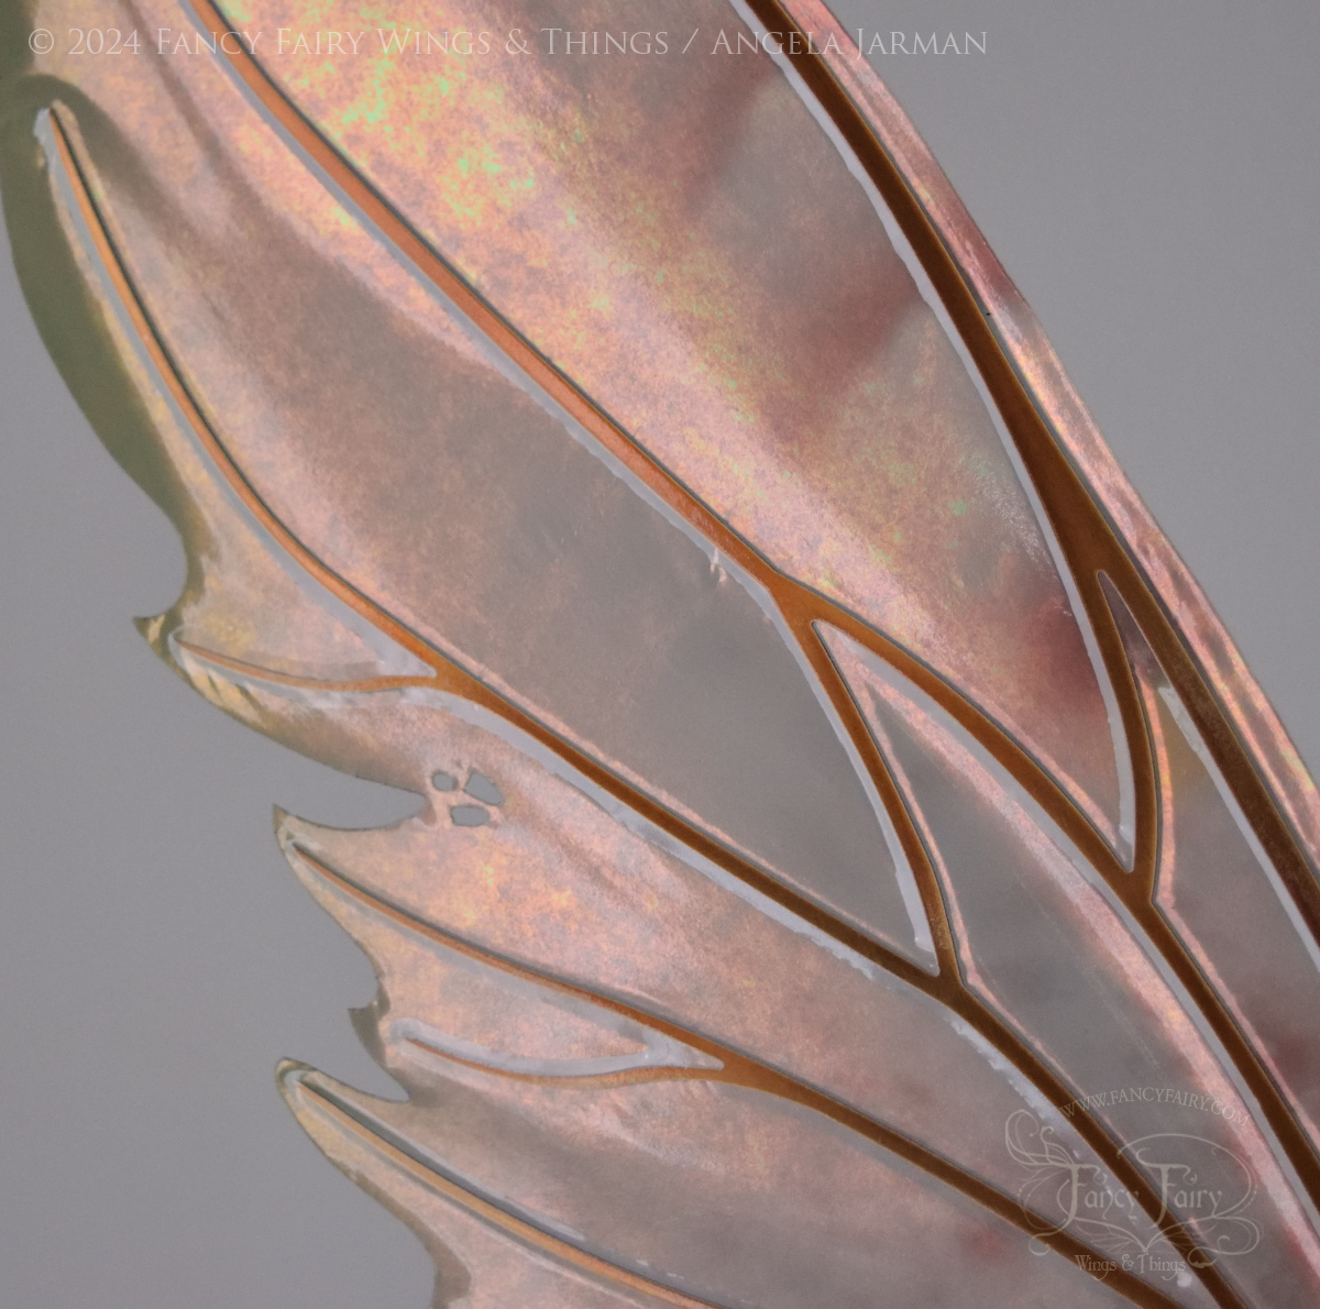
{"type": "MultiPolygon", "coordinates": [[[[220,8],[268,30],[302,12],[220,8]]],[[[318,22],[355,15],[331,3],[318,22]]],[[[502,28],[539,55],[446,58],[428,33],[482,30],[478,7],[392,21],[367,36],[379,58],[309,59],[290,40],[257,61],[682,488],[965,690],[1123,847],[1126,760],[994,421],[879,197],[764,49],[573,58],[512,5],[502,28]]],[[[601,42],[661,20],[623,3],[560,21],[601,42]]],[[[705,0],[663,25],[752,36],[705,0]]]]}

